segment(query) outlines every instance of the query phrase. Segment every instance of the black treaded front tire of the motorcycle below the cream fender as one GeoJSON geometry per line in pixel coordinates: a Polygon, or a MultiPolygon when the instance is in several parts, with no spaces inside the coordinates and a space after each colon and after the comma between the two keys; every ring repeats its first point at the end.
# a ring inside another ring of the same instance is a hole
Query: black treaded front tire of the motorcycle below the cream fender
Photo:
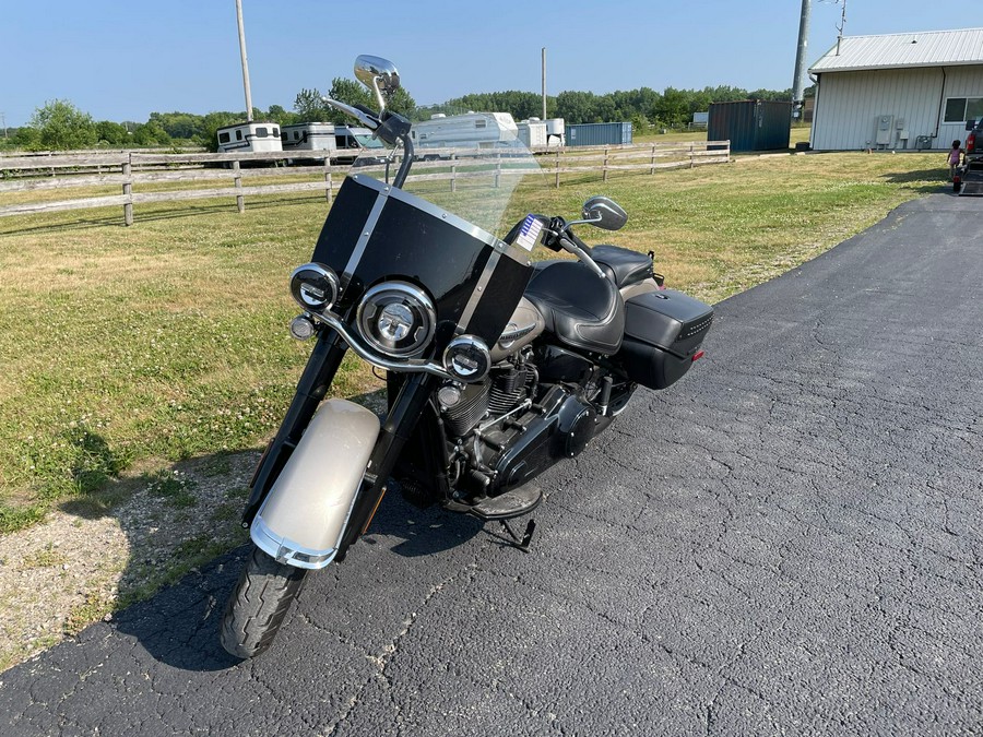
{"type": "Polygon", "coordinates": [[[272,644],[306,573],[252,547],[222,616],[218,638],[229,655],[253,657],[272,644]]]}

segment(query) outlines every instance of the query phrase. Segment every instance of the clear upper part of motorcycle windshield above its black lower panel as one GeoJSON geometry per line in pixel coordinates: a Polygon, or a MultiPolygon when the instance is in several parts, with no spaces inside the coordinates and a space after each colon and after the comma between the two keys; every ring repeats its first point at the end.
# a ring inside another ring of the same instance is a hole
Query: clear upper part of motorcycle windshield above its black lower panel
{"type": "MultiPolygon", "coordinates": [[[[414,157],[405,191],[499,238],[529,213],[513,195],[520,187],[540,183],[540,166],[508,114],[417,121],[411,140],[414,157]]],[[[392,182],[405,152],[402,146],[389,151],[386,161],[379,154],[363,152],[352,173],[392,182]]]]}

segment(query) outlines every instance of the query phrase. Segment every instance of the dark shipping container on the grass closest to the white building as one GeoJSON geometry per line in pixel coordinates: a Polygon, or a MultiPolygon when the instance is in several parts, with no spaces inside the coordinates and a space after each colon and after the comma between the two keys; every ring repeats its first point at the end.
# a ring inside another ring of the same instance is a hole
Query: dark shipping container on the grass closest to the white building
{"type": "Polygon", "coordinates": [[[775,151],[789,147],[792,103],[745,99],[711,103],[708,141],[730,141],[731,151],[775,151]]]}

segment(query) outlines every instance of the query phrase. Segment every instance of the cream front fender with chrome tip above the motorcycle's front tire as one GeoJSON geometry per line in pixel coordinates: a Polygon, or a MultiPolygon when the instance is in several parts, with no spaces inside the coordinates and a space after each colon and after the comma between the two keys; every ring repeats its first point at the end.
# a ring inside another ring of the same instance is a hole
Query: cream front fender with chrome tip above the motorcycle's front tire
{"type": "Polygon", "coordinates": [[[257,547],[297,568],[328,566],[378,437],[371,411],[346,400],[324,402],[252,521],[257,547]]]}

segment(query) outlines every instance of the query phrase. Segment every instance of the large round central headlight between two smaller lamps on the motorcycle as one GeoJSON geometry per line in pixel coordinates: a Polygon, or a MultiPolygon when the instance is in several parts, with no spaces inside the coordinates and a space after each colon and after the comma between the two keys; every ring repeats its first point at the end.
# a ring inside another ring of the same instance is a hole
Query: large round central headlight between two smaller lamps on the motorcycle
{"type": "Polygon", "coordinates": [[[429,345],[437,310],[427,293],[406,282],[383,282],[365,293],[358,306],[358,331],[387,356],[413,356],[429,345]]]}

